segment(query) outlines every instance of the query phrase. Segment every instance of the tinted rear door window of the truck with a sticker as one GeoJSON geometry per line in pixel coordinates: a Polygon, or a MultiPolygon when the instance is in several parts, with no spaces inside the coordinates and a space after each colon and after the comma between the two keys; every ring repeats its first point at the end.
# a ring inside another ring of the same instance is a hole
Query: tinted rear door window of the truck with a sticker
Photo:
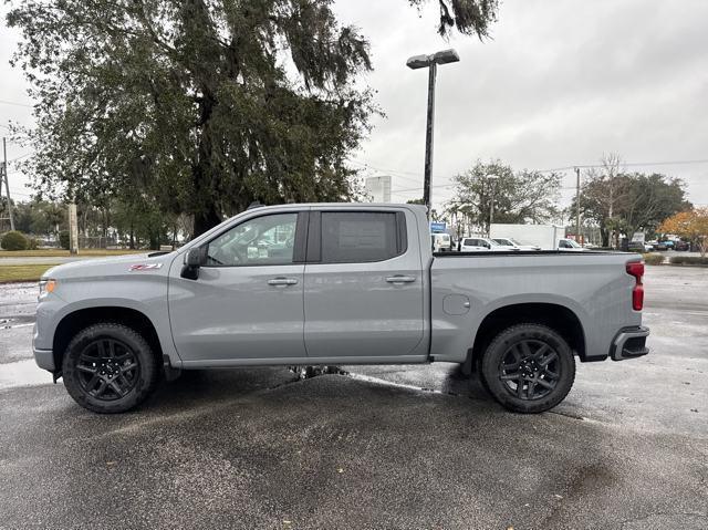
{"type": "Polygon", "coordinates": [[[403,214],[322,212],[323,263],[383,261],[404,253],[405,247],[403,214]]]}

